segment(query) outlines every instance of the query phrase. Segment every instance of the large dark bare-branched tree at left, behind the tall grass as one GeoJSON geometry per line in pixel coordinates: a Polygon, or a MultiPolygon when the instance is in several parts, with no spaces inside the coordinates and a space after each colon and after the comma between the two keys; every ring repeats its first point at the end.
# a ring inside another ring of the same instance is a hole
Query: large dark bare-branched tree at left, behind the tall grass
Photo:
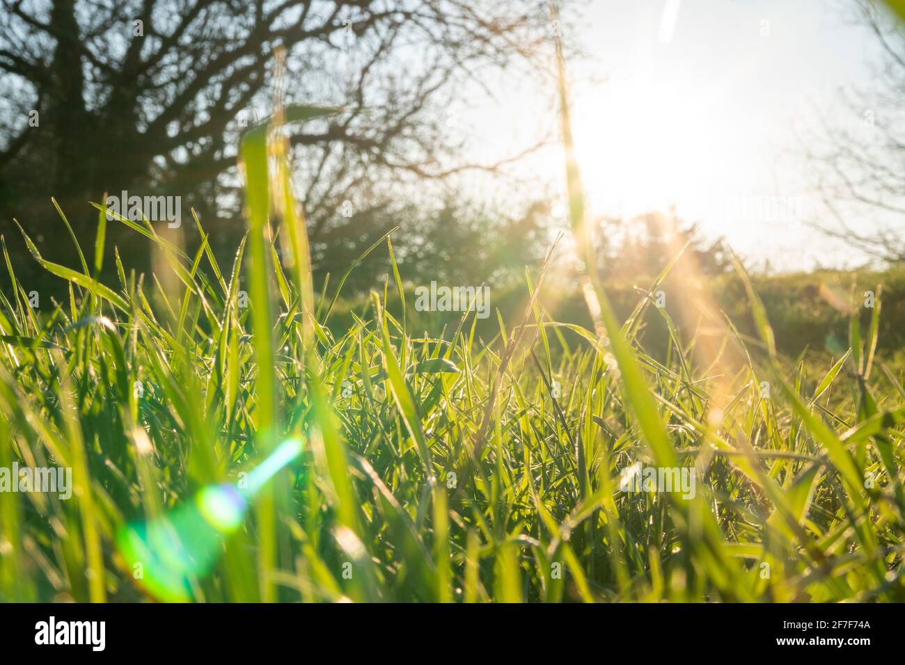
{"type": "MultiPolygon", "coordinates": [[[[541,0],[0,4],[0,104],[12,119],[0,128],[0,219],[45,245],[61,228],[51,196],[90,242],[88,202],[126,190],[180,196],[184,216],[195,207],[212,242],[233,247],[236,139],[275,96],[359,111],[291,135],[315,242],[344,223],[343,206],[385,206],[389,185],[492,170],[456,162],[443,109],[488,68],[529,62],[548,20],[541,0]]],[[[114,242],[122,231],[110,229],[114,242]]]]}

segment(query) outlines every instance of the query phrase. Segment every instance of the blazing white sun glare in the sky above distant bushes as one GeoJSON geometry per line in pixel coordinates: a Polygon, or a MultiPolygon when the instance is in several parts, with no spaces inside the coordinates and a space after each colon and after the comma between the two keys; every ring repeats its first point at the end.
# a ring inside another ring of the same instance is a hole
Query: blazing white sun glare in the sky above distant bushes
{"type": "Polygon", "coordinates": [[[721,81],[640,59],[577,91],[573,105],[576,157],[596,214],[674,206],[685,219],[715,218],[757,179],[756,119],[721,81]]]}

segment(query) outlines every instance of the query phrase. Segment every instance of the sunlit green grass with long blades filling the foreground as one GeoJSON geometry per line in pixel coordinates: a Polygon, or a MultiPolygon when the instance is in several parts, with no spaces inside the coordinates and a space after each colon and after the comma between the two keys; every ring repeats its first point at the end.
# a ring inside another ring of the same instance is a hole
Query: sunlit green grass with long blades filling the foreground
{"type": "MultiPolygon", "coordinates": [[[[187,599],[905,600],[905,389],[875,356],[879,300],[866,325],[853,310],[849,348],[821,365],[776,350],[740,265],[754,339],[706,287],[685,296],[716,318],[681,332],[681,307],[651,295],[672,264],[624,320],[589,280],[593,330],[551,318],[541,270],[526,275],[523,314],[499,315],[483,341],[473,313],[435,336],[411,329],[394,260],[383,292],[336,333],[345,277],[313,290],[287,172],[268,171],[269,150],[285,164],[281,144],[262,127],[243,143],[250,230],[232,266],[198,220],[188,255],[119,218],[156,269],[136,276],[114,251],[119,284],[101,284],[103,205],[90,267],[81,248],[77,271],[29,242],[69,282],[69,302],[32,309],[7,257],[0,467],[71,467],[74,491],[0,492],[0,599],[152,597],[159,562],[126,560],[118,531],[240,482],[298,438],[300,459],[218,537],[187,599]],[[644,346],[651,317],[670,331],[665,348],[644,346]],[[694,467],[694,498],[622,491],[638,461],[694,467]]],[[[389,237],[368,252],[385,245],[392,257],[389,237]]]]}

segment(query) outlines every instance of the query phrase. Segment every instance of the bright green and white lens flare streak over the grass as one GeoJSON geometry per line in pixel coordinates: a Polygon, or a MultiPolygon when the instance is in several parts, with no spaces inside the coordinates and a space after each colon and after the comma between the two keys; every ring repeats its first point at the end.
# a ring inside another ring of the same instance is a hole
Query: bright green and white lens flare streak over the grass
{"type": "Polygon", "coordinates": [[[242,526],[255,495],[301,450],[299,439],[282,442],[243,487],[208,485],[167,515],[120,528],[117,549],[138,583],[161,601],[192,600],[198,579],[211,572],[223,551],[224,535],[242,526]]]}

